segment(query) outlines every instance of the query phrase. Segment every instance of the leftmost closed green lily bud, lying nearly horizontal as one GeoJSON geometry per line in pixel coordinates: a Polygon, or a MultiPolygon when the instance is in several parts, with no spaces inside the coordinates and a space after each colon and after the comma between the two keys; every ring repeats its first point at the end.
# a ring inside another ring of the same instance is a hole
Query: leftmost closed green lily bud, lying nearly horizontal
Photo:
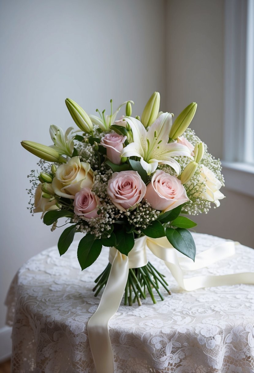
{"type": "Polygon", "coordinates": [[[23,148],[30,151],[30,153],[41,159],[44,159],[45,161],[61,163],[64,162],[64,158],[61,157],[56,150],[47,145],[42,145],[34,141],[21,141],[21,145],[23,146],[23,148]]]}

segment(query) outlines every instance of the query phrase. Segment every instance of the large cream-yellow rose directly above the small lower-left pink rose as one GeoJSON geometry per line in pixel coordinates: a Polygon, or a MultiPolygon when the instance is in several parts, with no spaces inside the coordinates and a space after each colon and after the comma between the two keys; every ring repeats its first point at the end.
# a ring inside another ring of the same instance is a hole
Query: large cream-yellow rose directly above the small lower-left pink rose
{"type": "Polygon", "coordinates": [[[52,187],[55,194],[64,198],[71,198],[82,188],[91,188],[93,172],[90,164],[80,162],[79,157],[72,157],[66,164],[58,166],[52,187]]]}

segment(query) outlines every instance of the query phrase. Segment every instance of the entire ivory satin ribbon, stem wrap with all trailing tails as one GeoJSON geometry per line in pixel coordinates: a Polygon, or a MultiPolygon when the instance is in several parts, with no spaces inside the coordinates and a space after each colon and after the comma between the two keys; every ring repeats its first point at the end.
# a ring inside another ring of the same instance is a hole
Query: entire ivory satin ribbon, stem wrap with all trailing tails
{"type": "Polygon", "coordinates": [[[225,241],[196,255],[195,263],[171,246],[166,237],[147,236],[135,240],[128,256],[110,248],[109,262],[112,264],[107,285],[97,310],[88,322],[88,337],[97,373],[114,373],[114,356],[109,338],[108,322],[117,312],[123,298],[130,268],[147,264],[146,248],[165,261],[172,276],[182,289],[191,291],[209,286],[253,284],[254,273],[232,273],[230,275],[203,275],[184,278],[183,271],[197,270],[235,254],[235,243],[225,241]]]}

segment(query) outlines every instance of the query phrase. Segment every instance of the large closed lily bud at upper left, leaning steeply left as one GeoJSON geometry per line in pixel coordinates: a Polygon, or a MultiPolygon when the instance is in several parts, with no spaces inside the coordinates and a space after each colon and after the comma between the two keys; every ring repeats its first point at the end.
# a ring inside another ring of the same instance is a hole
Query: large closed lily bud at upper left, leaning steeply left
{"type": "Polygon", "coordinates": [[[93,131],[93,123],[85,110],[70,98],[66,98],[65,103],[76,125],[82,129],[82,131],[91,133],[93,131]]]}

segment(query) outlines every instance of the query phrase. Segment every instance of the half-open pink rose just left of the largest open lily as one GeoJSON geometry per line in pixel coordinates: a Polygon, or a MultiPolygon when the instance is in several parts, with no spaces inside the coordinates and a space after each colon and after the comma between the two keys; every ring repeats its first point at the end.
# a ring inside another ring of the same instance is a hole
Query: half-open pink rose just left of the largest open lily
{"type": "Polygon", "coordinates": [[[116,133],[106,134],[102,137],[101,145],[107,149],[107,157],[111,162],[115,164],[121,163],[121,151],[124,148],[123,143],[126,139],[126,136],[116,133]]]}

